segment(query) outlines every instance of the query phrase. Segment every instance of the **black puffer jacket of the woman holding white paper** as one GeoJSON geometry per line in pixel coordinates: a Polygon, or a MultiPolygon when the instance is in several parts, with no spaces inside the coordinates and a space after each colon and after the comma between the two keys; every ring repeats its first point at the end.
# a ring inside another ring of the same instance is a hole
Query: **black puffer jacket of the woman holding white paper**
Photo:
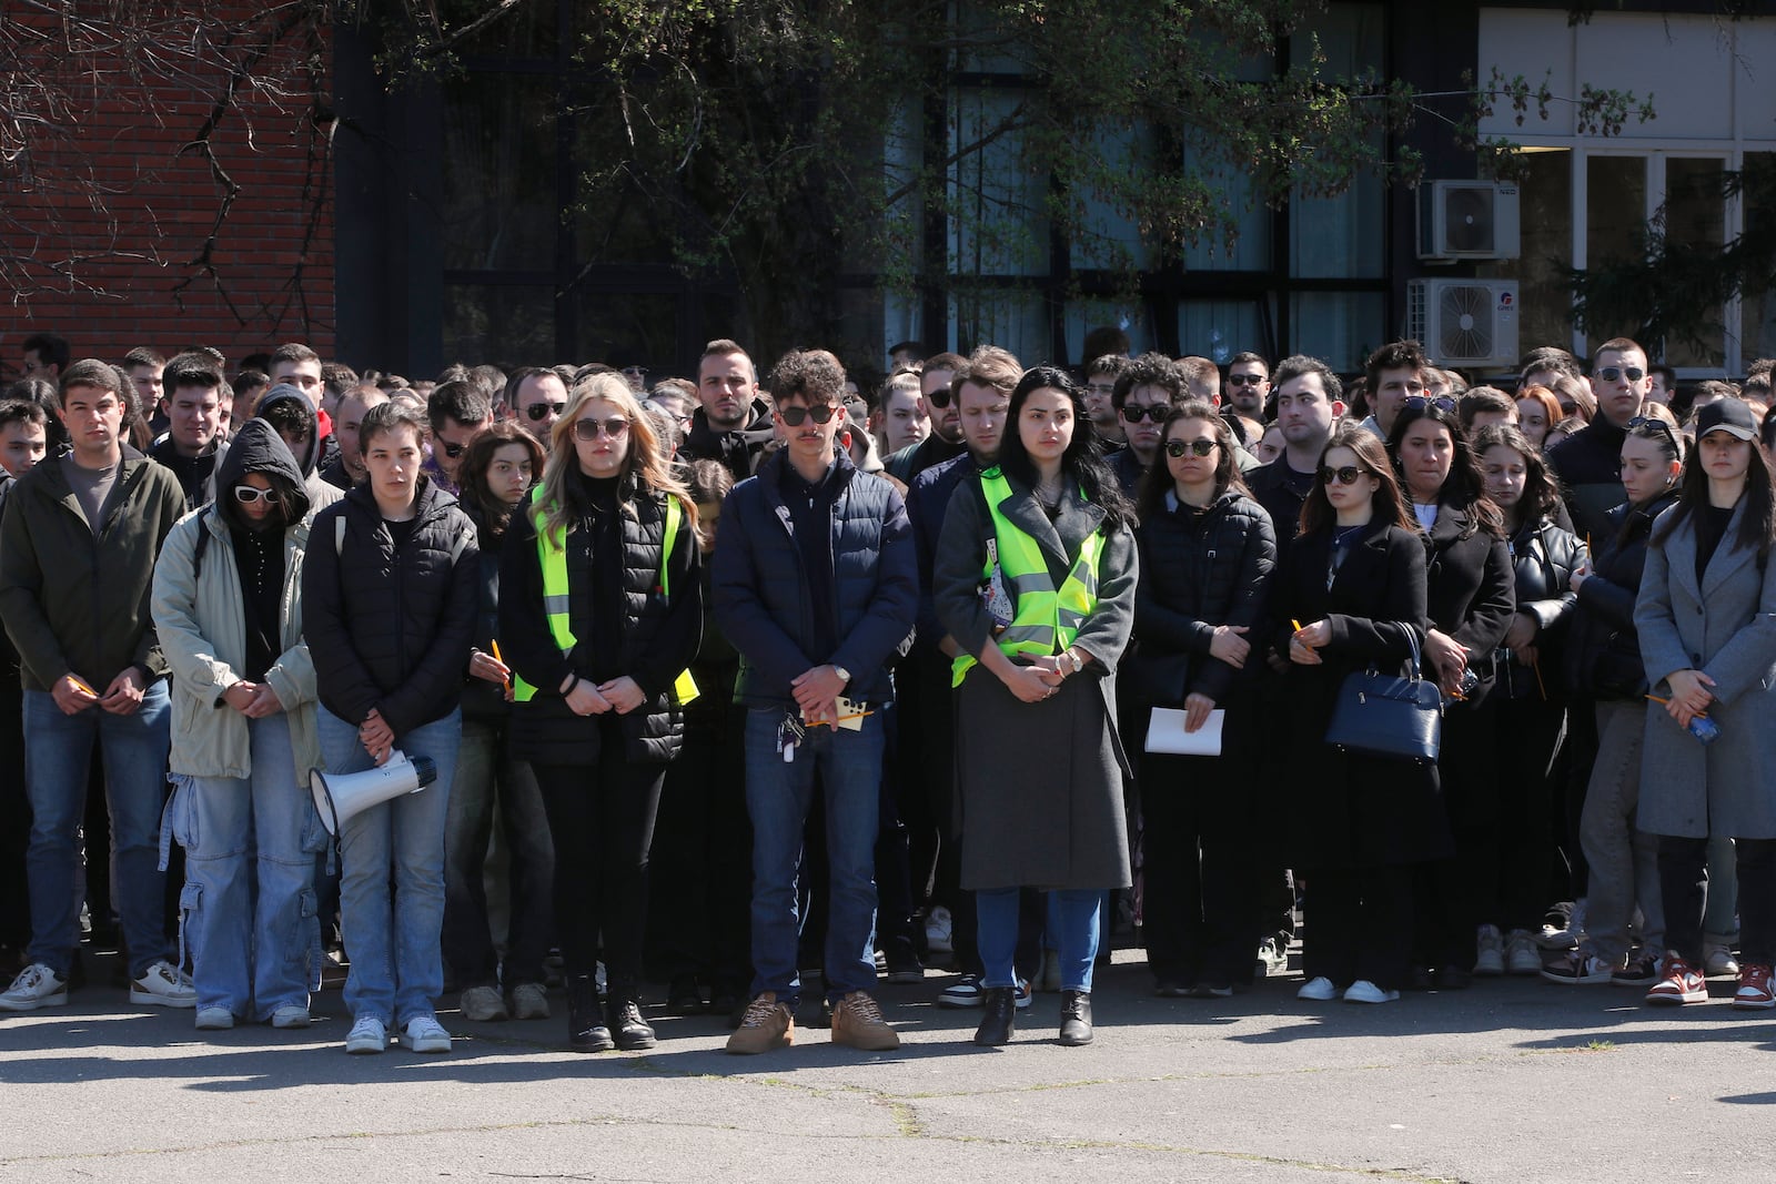
{"type": "Polygon", "coordinates": [[[1202,511],[1176,497],[1135,531],[1140,584],[1135,588],[1135,646],[1117,676],[1130,701],[1181,706],[1192,692],[1225,703],[1263,662],[1261,623],[1277,536],[1270,515],[1250,497],[1225,492],[1202,511]],[[1254,653],[1236,671],[1209,657],[1217,625],[1243,625],[1254,653]]]}

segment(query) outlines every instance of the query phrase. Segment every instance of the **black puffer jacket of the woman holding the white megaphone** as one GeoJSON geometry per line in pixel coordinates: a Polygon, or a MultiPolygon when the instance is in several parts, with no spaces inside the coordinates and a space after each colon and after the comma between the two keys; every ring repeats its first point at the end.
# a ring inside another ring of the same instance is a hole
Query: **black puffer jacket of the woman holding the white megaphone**
{"type": "Polygon", "coordinates": [[[469,664],[480,568],[474,525],[430,481],[400,547],[368,485],[314,515],[302,621],[321,706],[355,724],[377,708],[396,737],[449,715],[469,664]]]}

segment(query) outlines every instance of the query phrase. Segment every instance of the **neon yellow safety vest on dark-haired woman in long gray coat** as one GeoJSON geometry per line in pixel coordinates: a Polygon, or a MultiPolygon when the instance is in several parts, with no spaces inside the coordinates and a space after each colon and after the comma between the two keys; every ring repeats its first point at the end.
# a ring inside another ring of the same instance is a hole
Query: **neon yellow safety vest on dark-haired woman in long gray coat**
{"type": "MultiPolygon", "coordinates": [[[[1005,481],[1005,474],[998,469],[982,472],[980,492],[986,493],[987,511],[993,515],[1000,579],[1005,584],[1005,593],[1018,605],[1011,625],[995,639],[1000,651],[1009,659],[1064,653],[1080,635],[1080,625],[1098,607],[1098,561],[1105,550],[1103,531],[1092,531],[1080,543],[1080,556],[1057,589],[1055,580],[1048,575],[1043,549],[1000,511],[1000,506],[1011,497],[1011,483],[1005,481]]],[[[993,563],[989,559],[982,579],[991,577],[993,563]]],[[[975,662],[971,653],[959,653],[952,664],[950,685],[963,685],[963,676],[975,662]]]]}

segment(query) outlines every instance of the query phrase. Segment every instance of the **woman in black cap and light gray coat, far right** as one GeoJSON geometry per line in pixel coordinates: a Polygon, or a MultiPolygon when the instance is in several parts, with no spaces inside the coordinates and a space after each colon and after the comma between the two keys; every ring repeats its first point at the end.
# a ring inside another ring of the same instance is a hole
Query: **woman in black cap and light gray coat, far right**
{"type": "Polygon", "coordinates": [[[1648,1003],[1701,1003],[1703,861],[1710,834],[1739,849],[1744,957],[1733,1006],[1776,1006],[1776,540],[1771,470],[1756,419],[1739,399],[1696,417],[1696,447],[1684,462],[1682,501],[1655,525],[1634,605],[1646,680],[1639,827],[1659,841],[1666,946],[1662,980],[1648,1003]],[[1719,730],[1703,744],[1694,728],[1719,730]]]}

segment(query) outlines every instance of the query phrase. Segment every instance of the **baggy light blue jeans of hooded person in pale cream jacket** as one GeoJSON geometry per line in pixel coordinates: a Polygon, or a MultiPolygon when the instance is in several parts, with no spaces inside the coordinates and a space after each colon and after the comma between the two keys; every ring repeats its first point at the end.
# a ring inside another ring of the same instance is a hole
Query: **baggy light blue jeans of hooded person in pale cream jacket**
{"type": "Polygon", "coordinates": [[[289,717],[247,721],[247,735],[252,774],[174,776],[167,818],[185,847],[179,918],[197,1006],[265,1021],[279,1006],[307,1006],[320,976],[314,854],[327,831],[297,781],[289,717]]]}

